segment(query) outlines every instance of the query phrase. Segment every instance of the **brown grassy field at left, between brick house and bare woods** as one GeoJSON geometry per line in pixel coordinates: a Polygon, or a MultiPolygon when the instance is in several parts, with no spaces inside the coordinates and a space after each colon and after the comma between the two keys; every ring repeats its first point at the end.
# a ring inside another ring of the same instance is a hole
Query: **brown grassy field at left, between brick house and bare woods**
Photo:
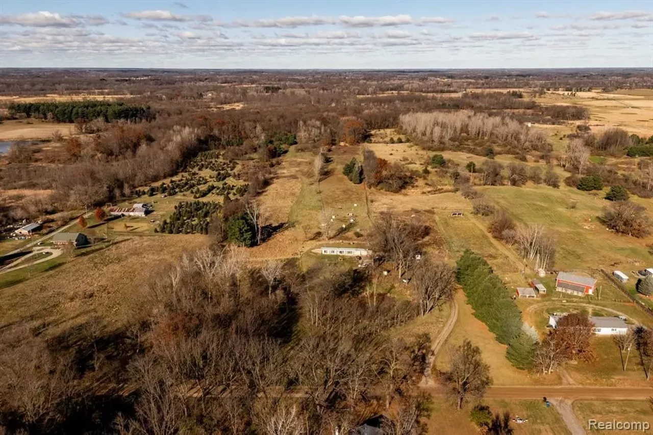
{"type": "Polygon", "coordinates": [[[196,235],[138,237],[73,259],[38,280],[3,289],[0,306],[12,309],[1,311],[0,325],[27,321],[55,336],[97,315],[110,330],[118,328],[138,310],[142,283],[157,268],[207,242],[196,235]]]}

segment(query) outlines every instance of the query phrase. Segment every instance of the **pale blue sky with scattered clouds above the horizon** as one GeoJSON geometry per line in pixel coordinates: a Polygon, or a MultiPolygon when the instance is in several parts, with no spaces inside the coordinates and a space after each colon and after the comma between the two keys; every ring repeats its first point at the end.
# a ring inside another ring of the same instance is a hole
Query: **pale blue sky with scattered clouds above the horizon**
{"type": "Polygon", "coordinates": [[[653,0],[0,0],[0,67],[653,67],[653,0]]]}

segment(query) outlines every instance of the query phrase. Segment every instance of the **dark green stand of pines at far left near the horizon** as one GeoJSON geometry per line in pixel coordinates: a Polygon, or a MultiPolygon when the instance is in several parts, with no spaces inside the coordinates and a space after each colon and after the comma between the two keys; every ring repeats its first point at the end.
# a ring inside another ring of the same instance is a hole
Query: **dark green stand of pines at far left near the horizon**
{"type": "Polygon", "coordinates": [[[40,118],[57,122],[91,121],[101,118],[113,121],[150,121],[154,118],[150,107],[132,106],[106,101],[48,101],[43,103],[11,103],[9,115],[40,118]]]}

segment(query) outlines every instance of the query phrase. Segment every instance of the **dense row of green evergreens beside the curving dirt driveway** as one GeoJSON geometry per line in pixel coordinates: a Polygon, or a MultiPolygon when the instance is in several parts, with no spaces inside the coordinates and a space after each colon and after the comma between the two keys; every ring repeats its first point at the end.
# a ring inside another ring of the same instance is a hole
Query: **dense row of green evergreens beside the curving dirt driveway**
{"type": "Polygon", "coordinates": [[[485,259],[470,250],[465,250],[456,266],[456,279],[462,285],[475,317],[487,325],[498,342],[507,344],[509,361],[517,368],[526,368],[534,340],[522,332],[522,314],[509,290],[485,259]]]}

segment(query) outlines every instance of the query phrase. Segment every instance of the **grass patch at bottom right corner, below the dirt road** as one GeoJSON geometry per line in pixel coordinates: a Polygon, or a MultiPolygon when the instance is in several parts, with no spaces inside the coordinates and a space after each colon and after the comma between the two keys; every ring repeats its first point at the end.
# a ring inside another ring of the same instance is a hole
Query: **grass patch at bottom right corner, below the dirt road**
{"type": "MultiPolygon", "coordinates": [[[[575,400],[573,410],[585,430],[590,432],[588,421],[647,421],[653,427],[653,409],[645,400],[575,400]]],[[[594,433],[594,431],[591,431],[594,433]]],[[[609,431],[606,431],[609,432],[609,431]]],[[[641,434],[642,430],[618,430],[619,435],[641,434]]]]}

